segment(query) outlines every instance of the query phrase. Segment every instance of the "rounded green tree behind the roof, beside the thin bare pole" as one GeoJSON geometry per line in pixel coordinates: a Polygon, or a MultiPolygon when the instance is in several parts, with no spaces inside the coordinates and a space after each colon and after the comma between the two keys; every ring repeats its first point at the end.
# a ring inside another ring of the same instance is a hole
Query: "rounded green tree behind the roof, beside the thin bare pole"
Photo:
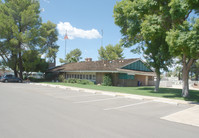
{"type": "Polygon", "coordinates": [[[100,60],[116,60],[123,59],[123,49],[119,44],[115,46],[109,44],[105,48],[101,46],[98,50],[100,60]]]}

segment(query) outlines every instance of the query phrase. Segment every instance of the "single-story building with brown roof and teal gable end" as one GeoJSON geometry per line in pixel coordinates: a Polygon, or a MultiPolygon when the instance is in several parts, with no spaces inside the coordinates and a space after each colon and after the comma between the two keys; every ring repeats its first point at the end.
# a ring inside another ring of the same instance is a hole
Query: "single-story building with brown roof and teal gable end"
{"type": "Polygon", "coordinates": [[[96,84],[103,83],[105,74],[111,74],[114,86],[152,86],[155,77],[155,72],[139,58],[101,61],[86,58],[83,62],[51,68],[47,73],[50,72],[64,75],[65,79],[87,79],[96,84]]]}

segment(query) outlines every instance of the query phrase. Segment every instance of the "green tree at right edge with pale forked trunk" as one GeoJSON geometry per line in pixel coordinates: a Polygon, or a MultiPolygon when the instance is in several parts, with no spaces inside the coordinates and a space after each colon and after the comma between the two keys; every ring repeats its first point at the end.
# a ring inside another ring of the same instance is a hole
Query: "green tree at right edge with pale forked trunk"
{"type": "Polygon", "coordinates": [[[189,95],[189,72],[192,64],[199,58],[199,18],[189,20],[190,14],[197,12],[197,0],[172,0],[169,4],[172,15],[172,29],[167,33],[170,53],[182,58],[182,96],[189,95]]]}

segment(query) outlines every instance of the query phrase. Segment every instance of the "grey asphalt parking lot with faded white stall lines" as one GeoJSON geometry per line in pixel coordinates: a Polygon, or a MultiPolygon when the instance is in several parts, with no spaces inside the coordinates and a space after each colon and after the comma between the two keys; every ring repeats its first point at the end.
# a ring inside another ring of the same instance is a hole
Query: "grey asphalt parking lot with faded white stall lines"
{"type": "Polygon", "coordinates": [[[0,138],[198,138],[199,127],[160,119],[188,108],[0,83],[0,138]]]}

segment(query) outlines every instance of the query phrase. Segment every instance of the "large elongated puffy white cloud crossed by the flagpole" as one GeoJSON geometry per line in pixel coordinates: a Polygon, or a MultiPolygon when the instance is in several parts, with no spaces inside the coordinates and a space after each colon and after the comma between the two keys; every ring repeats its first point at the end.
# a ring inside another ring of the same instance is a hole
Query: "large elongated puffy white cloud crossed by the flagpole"
{"type": "Polygon", "coordinates": [[[76,27],[73,27],[69,22],[60,22],[57,25],[57,29],[59,31],[59,34],[64,36],[66,34],[69,39],[75,39],[75,38],[84,38],[84,39],[97,39],[101,38],[102,36],[96,29],[91,30],[83,30],[76,27]]]}

